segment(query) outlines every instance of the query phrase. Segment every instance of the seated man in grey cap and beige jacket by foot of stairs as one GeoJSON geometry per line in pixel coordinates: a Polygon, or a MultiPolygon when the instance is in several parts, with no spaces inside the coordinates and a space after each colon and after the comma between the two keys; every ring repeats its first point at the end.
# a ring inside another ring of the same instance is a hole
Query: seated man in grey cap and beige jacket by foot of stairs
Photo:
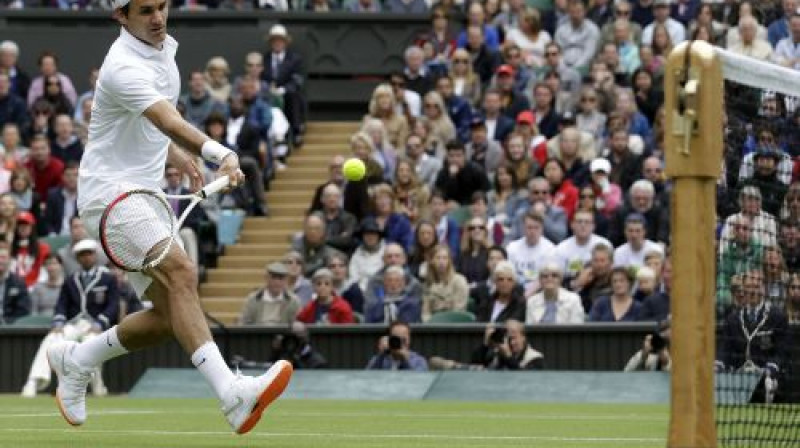
{"type": "Polygon", "coordinates": [[[300,299],[286,285],[289,276],[286,265],[270,263],[265,274],[266,284],[245,299],[239,319],[242,325],[288,325],[300,310],[300,299]]]}

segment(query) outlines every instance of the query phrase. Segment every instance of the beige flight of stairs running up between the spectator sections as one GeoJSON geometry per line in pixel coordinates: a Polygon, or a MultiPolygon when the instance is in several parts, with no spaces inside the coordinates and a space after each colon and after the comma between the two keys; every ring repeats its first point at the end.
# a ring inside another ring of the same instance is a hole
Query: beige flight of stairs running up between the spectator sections
{"type": "Polygon", "coordinates": [[[216,319],[226,324],[238,320],[247,294],[264,283],[264,266],[282,259],[292,236],[302,231],[314,192],[328,178],[328,164],[337,154],[349,156],[350,136],[359,127],[359,122],[308,123],[302,148],[270,184],[270,216],[245,218],[239,242],[225,248],[200,286],[203,304],[216,319]]]}

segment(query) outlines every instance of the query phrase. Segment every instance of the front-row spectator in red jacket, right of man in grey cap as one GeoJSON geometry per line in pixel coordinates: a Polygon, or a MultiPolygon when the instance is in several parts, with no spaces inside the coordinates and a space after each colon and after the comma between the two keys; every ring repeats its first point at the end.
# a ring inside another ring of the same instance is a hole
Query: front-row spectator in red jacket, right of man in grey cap
{"type": "Polygon", "coordinates": [[[317,270],[311,277],[314,300],[297,314],[297,320],[306,324],[352,324],[353,310],[346,300],[336,295],[333,272],[328,268],[317,270]]]}

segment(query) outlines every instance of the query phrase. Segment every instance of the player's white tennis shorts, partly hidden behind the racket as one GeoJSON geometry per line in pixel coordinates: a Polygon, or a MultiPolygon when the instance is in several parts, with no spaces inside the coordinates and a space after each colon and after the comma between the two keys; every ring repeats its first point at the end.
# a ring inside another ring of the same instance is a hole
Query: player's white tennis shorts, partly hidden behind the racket
{"type": "MultiPolygon", "coordinates": [[[[80,211],[83,225],[86,227],[90,237],[100,241],[100,219],[103,216],[103,211],[106,205],[111,203],[119,194],[122,194],[123,191],[126,190],[120,190],[114,195],[109,195],[110,198],[107,200],[92,201],[80,211]]],[[[118,206],[124,207],[124,205],[119,204],[118,206]]],[[[123,234],[130,235],[129,250],[140,254],[142,260],[156,244],[170,236],[170,223],[164,222],[158,216],[163,215],[137,208],[137,210],[132,211],[129,223],[126,222],[125,227],[121,229],[123,234]]],[[[183,242],[180,238],[175,238],[173,244],[178,244],[183,249],[183,242]]],[[[140,299],[145,297],[145,291],[153,282],[150,276],[141,272],[129,272],[128,281],[140,299]]]]}

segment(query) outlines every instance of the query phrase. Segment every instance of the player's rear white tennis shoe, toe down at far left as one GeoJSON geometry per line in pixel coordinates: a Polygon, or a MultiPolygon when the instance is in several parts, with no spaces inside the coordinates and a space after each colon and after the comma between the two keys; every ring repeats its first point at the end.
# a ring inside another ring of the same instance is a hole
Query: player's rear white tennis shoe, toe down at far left
{"type": "Polygon", "coordinates": [[[77,342],[64,341],[47,349],[47,361],[58,376],[56,403],[64,420],[72,426],[86,421],[86,388],[94,369],[78,365],[73,359],[77,342]]]}

